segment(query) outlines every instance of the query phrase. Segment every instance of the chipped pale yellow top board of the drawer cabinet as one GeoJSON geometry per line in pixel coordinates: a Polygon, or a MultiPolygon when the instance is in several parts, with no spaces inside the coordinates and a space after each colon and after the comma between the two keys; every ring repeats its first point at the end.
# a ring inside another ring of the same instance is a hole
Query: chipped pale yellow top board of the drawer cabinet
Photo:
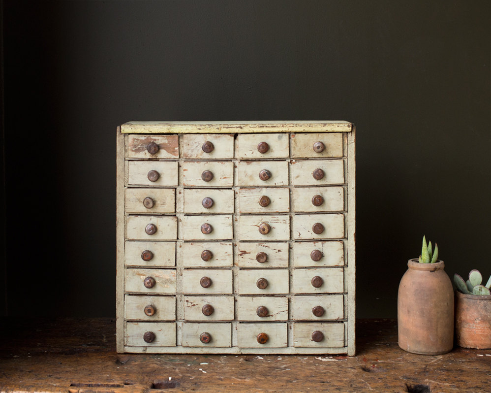
{"type": "Polygon", "coordinates": [[[350,132],[346,121],[127,122],[121,133],[350,132]]]}

